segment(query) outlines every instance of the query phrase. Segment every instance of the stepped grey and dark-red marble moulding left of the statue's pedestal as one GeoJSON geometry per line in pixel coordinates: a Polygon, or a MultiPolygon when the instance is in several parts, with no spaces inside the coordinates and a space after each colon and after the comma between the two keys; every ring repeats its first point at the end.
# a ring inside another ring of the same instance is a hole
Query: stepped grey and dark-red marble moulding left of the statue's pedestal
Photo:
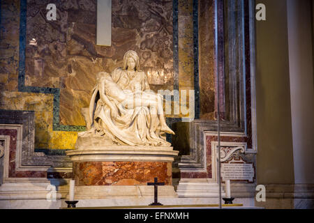
{"type": "Polygon", "coordinates": [[[6,183],[27,180],[25,178],[44,180],[47,178],[48,170],[50,176],[54,175],[49,178],[72,178],[68,157],[34,151],[32,117],[31,112],[0,112],[0,147],[3,147],[3,156],[0,158],[3,160],[3,181],[6,183]]]}

